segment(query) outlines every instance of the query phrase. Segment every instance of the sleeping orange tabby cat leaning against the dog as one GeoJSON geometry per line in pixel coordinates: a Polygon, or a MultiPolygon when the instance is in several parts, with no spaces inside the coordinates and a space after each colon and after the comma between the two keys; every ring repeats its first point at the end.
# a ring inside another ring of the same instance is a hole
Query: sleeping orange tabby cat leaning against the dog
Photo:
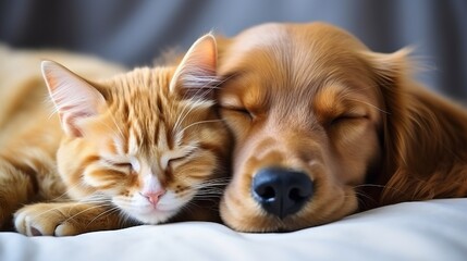
{"type": "Polygon", "coordinates": [[[216,220],[206,202],[220,197],[230,151],[216,62],[210,34],[179,65],[99,82],[42,61],[47,88],[33,80],[2,101],[14,109],[0,114],[0,226],[13,219],[28,236],[67,236],[216,220]]]}

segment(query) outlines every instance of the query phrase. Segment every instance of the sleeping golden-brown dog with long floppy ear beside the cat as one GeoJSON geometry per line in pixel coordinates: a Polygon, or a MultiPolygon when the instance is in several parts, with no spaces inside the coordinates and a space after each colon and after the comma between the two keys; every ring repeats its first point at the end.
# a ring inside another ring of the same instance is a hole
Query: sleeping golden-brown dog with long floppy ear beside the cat
{"type": "Polygon", "coordinates": [[[404,201],[467,196],[467,112],[410,77],[409,49],[377,53],[323,23],[219,38],[231,129],[222,220],[286,232],[404,201]]]}

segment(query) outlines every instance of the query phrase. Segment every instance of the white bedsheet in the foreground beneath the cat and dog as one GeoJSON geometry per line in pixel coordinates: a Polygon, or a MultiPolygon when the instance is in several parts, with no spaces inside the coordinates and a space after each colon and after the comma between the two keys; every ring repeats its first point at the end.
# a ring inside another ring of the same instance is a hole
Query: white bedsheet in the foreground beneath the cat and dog
{"type": "Polygon", "coordinates": [[[15,260],[467,260],[467,199],[400,203],[282,234],[206,222],[64,238],[0,233],[0,261],[15,260]]]}

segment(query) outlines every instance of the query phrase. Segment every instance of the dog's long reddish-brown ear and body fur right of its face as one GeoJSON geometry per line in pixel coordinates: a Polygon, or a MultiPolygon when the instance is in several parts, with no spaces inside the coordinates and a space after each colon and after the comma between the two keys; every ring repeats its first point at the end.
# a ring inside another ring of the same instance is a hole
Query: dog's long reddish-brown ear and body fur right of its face
{"type": "Polygon", "coordinates": [[[459,153],[467,145],[467,115],[410,79],[409,52],[364,53],[386,112],[381,135],[384,171],[378,177],[384,186],[382,204],[462,197],[465,189],[455,182],[459,174],[453,167],[466,157],[459,153]]]}

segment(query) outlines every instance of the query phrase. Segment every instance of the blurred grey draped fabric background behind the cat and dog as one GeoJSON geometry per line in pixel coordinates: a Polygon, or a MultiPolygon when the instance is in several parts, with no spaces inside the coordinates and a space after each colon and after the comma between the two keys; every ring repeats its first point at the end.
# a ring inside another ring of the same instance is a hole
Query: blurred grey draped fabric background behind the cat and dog
{"type": "Polygon", "coordinates": [[[374,51],[415,46],[429,69],[417,77],[467,100],[467,0],[2,0],[0,41],[134,66],[211,29],[233,36],[265,22],[310,21],[341,26],[374,51]]]}

